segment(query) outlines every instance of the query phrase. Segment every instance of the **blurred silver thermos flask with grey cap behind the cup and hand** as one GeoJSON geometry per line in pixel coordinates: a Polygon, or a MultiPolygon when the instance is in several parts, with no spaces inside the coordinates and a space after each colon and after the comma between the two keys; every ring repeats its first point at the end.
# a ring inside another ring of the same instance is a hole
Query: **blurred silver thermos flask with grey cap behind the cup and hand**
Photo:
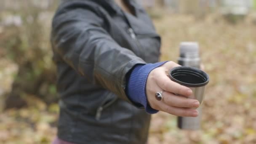
{"type": "MultiPolygon", "coordinates": [[[[199,45],[196,42],[182,42],[178,64],[200,69],[199,45]]],[[[202,106],[197,108],[197,117],[178,117],[178,127],[184,130],[199,130],[201,128],[202,106]]]]}

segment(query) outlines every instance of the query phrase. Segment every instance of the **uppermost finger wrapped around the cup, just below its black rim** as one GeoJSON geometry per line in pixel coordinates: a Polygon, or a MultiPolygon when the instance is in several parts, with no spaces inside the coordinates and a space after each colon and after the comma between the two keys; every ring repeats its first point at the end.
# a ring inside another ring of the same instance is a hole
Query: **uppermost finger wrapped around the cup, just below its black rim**
{"type": "Polygon", "coordinates": [[[166,75],[159,75],[156,79],[157,85],[160,86],[165,91],[170,93],[179,94],[182,96],[190,96],[192,95],[192,90],[184,85],[180,85],[179,83],[173,82],[166,75]]]}

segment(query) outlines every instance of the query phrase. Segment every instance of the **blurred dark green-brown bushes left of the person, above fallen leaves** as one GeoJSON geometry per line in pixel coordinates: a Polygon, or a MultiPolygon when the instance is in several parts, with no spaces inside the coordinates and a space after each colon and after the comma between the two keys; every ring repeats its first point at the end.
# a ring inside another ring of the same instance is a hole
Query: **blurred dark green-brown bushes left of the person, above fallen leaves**
{"type": "Polygon", "coordinates": [[[57,1],[3,2],[1,9],[1,55],[16,64],[5,108],[23,107],[27,94],[56,102],[55,72],[49,35],[57,1]]]}

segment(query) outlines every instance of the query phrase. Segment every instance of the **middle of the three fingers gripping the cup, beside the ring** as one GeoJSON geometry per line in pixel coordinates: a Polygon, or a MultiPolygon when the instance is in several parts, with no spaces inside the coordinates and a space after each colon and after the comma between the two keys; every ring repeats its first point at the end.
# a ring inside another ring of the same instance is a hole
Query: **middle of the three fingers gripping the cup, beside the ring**
{"type": "Polygon", "coordinates": [[[163,102],[173,107],[197,108],[200,103],[196,99],[188,99],[183,96],[176,96],[167,91],[163,92],[163,102]]]}

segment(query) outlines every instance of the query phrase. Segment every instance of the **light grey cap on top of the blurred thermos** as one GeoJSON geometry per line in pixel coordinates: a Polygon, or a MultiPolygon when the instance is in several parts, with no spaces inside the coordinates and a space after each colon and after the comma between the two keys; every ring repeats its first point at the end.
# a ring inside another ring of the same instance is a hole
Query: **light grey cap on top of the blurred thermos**
{"type": "Polygon", "coordinates": [[[199,45],[197,42],[182,42],[180,44],[180,54],[199,53],[199,45]]]}

